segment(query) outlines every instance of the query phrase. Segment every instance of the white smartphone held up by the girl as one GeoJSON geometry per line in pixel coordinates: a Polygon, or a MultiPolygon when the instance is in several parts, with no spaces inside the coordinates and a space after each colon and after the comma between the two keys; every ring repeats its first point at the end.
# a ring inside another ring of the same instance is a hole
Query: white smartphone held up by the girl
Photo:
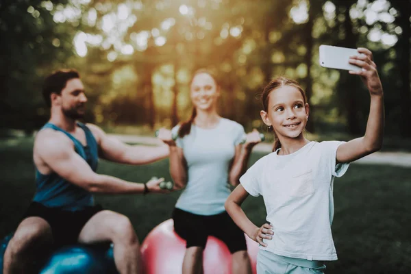
{"type": "Polygon", "coordinates": [[[345,69],[347,71],[361,71],[360,66],[349,64],[349,56],[360,55],[357,49],[347,47],[320,46],[320,65],[330,69],[345,69]]]}

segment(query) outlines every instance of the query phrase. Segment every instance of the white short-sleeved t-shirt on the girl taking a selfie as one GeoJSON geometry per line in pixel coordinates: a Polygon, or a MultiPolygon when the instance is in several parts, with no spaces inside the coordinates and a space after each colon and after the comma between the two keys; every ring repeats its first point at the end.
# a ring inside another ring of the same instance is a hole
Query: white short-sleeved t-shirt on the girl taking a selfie
{"type": "Polygon", "coordinates": [[[332,239],[334,177],[349,163],[336,164],[343,142],[309,142],[289,155],[270,153],[258,160],[240,183],[250,195],[264,197],[266,220],[273,226],[267,247],[280,256],[337,260],[332,239]]]}

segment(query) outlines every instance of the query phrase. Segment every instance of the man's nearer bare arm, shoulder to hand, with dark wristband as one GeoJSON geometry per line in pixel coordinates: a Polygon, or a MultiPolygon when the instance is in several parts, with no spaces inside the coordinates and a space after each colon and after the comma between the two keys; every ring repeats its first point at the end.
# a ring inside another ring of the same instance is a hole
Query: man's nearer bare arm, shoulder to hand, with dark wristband
{"type": "MultiPolygon", "coordinates": [[[[60,133],[42,134],[36,138],[35,149],[38,158],[51,171],[71,182],[71,184],[90,192],[134,194],[144,191],[144,184],[126,182],[123,179],[99,175],[92,171],[87,162],[75,153],[73,142],[60,133]]],[[[164,179],[149,181],[147,187],[152,192],[164,192],[158,186],[162,181],[164,179]]]]}

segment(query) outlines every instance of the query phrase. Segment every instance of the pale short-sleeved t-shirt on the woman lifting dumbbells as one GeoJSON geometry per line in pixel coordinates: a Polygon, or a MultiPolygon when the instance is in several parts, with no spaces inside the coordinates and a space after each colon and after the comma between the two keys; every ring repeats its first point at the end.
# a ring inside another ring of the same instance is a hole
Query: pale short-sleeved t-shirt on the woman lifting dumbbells
{"type": "MultiPolygon", "coordinates": [[[[177,132],[179,126],[172,129],[177,132]]],[[[236,145],[244,138],[244,127],[221,118],[212,129],[191,126],[190,134],[177,138],[188,166],[188,182],[176,208],[199,215],[215,215],[225,211],[224,203],[231,193],[229,169],[236,145]]]]}

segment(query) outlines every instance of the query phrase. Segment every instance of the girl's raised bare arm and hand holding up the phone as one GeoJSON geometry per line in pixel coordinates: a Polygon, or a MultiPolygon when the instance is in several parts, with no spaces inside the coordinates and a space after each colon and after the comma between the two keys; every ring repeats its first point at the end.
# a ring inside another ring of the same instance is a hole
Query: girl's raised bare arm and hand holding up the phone
{"type": "Polygon", "coordinates": [[[352,162],[378,151],[382,147],[384,135],[384,92],[382,91],[382,84],[371,51],[358,48],[358,52],[364,55],[352,56],[350,63],[361,66],[362,71],[350,71],[349,73],[360,75],[362,82],[369,89],[371,96],[369,119],[363,137],[353,139],[338,147],[337,162],[352,162]]]}

